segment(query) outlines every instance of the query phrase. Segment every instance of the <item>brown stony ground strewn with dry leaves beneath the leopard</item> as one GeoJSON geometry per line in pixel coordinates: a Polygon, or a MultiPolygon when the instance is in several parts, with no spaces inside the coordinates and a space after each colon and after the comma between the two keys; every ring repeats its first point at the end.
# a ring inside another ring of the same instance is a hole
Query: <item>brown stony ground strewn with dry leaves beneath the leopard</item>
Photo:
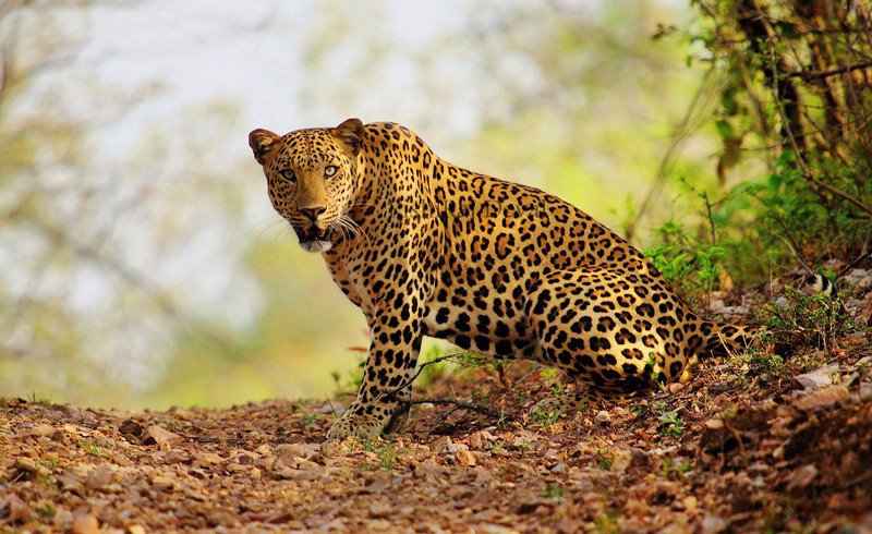
{"type": "MultiPolygon", "coordinates": [[[[0,532],[869,532],[872,294],[855,278],[849,328],[782,325],[801,344],[783,357],[708,360],[573,416],[526,416],[562,387],[552,371],[470,357],[426,368],[416,398],[488,410],[416,404],[367,442],[324,440],[349,393],[135,413],[4,399],[0,532]]],[[[780,299],[789,321],[799,298],[780,299]]]]}

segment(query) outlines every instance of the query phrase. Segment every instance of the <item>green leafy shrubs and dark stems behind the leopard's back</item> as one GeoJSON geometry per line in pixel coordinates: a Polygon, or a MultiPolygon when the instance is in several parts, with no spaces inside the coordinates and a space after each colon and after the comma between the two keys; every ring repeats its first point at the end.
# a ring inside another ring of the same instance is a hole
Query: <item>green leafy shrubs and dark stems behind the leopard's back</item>
{"type": "Polygon", "coordinates": [[[656,37],[679,34],[690,62],[711,65],[708,108],[693,111],[719,139],[718,183],[688,186],[683,202],[700,217],[661,227],[649,255],[697,302],[717,287],[718,265],[741,284],[785,265],[852,259],[872,235],[872,143],[856,128],[872,114],[872,93],[827,72],[872,59],[872,43],[850,37],[862,17],[836,19],[825,3],[693,4],[691,25],[656,37]]]}

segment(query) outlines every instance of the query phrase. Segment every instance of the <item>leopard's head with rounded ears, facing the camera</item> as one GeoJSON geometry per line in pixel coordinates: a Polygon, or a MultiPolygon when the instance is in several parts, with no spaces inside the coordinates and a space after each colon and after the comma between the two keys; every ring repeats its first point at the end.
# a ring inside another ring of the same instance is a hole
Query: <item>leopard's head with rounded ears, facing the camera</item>
{"type": "Polygon", "coordinates": [[[341,233],[356,192],[364,135],[360,119],[282,136],[263,129],[249,134],[272,207],[291,223],[304,250],[327,252],[341,233]]]}

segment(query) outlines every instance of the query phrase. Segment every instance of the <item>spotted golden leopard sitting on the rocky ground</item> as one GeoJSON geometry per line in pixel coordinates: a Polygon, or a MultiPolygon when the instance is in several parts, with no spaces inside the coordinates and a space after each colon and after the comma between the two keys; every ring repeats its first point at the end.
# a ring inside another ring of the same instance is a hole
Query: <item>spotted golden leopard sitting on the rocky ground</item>
{"type": "Polygon", "coordinates": [[[360,389],[328,439],[403,427],[425,337],[558,368],[577,387],[533,410],[568,413],[686,379],[759,333],[694,312],[572,204],[449,163],[398,123],[256,129],[249,146],[272,207],[370,328],[360,389]]]}

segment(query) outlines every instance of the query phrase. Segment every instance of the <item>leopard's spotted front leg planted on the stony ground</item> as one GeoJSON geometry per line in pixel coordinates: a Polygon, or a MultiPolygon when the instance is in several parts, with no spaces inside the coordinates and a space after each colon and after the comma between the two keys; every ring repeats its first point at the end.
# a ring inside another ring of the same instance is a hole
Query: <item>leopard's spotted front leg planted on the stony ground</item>
{"type": "Polygon", "coordinates": [[[401,400],[411,397],[421,349],[419,311],[420,305],[409,300],[379,303],[371,321],[373,343],[358,398],[330,427],[328,439],[370,438],[402,426],[409,406],[401,400]]]}

